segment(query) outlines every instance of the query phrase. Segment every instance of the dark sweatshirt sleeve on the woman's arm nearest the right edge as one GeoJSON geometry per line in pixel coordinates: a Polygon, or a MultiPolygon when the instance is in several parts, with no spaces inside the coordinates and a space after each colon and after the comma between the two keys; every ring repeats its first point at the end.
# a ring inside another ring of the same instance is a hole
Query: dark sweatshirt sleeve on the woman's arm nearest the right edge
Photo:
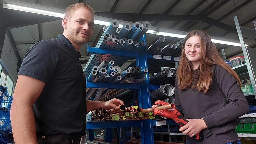
{"type": "Polygon", "coordinates": [[[247,100],[236,79],[229,72],[216,65],[213,77],[220,90],[226,96],[228,104],[218,111],[203,117],[208,129],[227,124],[249,112],[247,100]]]}

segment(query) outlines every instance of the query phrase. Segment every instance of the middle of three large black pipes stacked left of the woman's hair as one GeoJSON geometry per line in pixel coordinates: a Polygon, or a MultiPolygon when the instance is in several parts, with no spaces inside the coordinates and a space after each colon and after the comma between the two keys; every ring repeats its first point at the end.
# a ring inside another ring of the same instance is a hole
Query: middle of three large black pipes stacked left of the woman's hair
{"type": "Polygon", "coordinates": [[[174,94],[174,88],[170,84],[161,86],[159,89],[156,89],[150,92],[151,100],[168,98],[174,94]]]}

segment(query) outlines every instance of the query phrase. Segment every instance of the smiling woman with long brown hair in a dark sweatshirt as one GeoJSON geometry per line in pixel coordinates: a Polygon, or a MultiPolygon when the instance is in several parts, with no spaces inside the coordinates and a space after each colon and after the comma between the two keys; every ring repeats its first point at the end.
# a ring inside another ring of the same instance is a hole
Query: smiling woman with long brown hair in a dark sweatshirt
{"type": "Polygon", "coordinates": [[[238,75],[222,60],[210,36],[191,31],[184,39],[175,81],[176,109],[188,123],[187,144],[237,143],[236,119],[248,113],[238,75]],[[201,132],[202,142],[192,137],[201,132]]]}

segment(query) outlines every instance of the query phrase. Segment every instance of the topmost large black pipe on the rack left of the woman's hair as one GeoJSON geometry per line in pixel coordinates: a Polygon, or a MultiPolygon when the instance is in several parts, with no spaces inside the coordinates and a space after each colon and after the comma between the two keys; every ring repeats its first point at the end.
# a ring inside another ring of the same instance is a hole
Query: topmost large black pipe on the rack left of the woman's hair
{"type": "Polygon", "coordinates": [[[156,75],[152,76],[149,78],[149,83],[150,84],[158,84],[162,85],[165,84],[166,82],[175,79],[175,75],[173,74],[172,69],[164,69],[163,71],[157,73],[156,75]]]}

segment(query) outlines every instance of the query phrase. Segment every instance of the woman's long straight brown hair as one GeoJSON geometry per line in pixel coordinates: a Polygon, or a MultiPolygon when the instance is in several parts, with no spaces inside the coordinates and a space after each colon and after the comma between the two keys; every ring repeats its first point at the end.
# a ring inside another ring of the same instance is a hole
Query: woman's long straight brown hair
{"type": "Polygon", "coordinates": [[[179,89],[188,88],[197,89],[199,92],[206,93],[212,84],[213,65],[220,65],[228,71],[238,82],[241,87],[240,79],[236,72],[232,70],[219,56],[216,46],[212,43],[210,36],[201,30],[194,30],[188,33],[184,38],[182,53],[177,69],[177,78],[179,89]],[[200,39],[200,60],[198,81],[193,82],[192,63],[187,59],[185,54],[185,45],[188,38],[198,36],[200,39]]]}

